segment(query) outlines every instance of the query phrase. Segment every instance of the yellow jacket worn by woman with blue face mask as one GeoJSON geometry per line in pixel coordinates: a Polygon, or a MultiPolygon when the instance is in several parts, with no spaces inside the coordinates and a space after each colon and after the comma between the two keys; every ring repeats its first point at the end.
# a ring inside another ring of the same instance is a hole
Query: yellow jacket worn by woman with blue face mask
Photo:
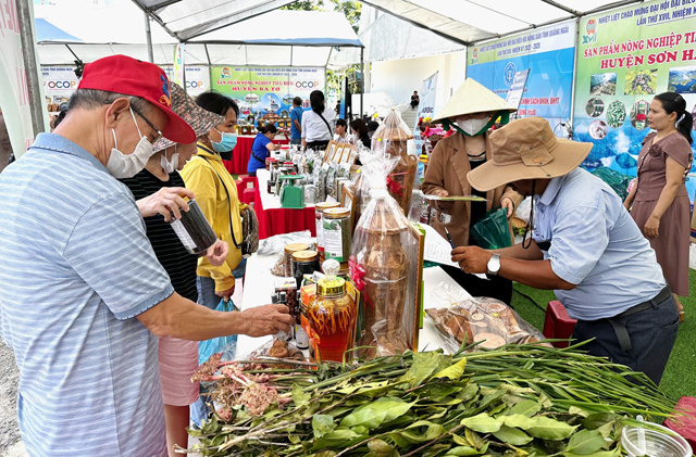
{"type": "Polygon", "coordinates": [[[235,284],[232,270],[237,268],[241,262],[241,250],[237,249],[232,240],[229,215],[232,215],[235,239],[237,243],[241,243],[244,238],[239,212],[244,211],[247,205],[239,203],[237,185],[222,163],[220,155],[211,152],[201,143],[198,143],[198,154],[194,155],[182,170],[182,177],[186,182],[186,188],[196,194],[196,202],[198,202],[217,238],[229,245],[229,254],[222,266],[214,267],[210,264],[208,257],[199,257],[196,274],[214,279],[215,292],[232,289],[235,284]],[[208,158],[209,162],[201,157],[208,158]],[[227,188],[227,192],[229,192],[229,202],[227,202],[225,189],[221,186],[221,177],[227,188]]]}

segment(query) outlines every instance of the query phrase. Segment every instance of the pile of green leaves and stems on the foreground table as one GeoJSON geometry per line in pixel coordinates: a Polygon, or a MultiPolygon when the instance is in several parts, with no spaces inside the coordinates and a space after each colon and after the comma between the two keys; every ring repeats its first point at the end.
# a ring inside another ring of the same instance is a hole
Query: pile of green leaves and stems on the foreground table
{"type": "MultiPolygon", "coordinates": [[[[577,346],[534,343],[470,352],[473,346],[453,356],[407,352],[297,368],[286,368],[293,360],[236,363],[234,378],[241,370],[245,381],[234,389],[259,389],[250,381],[257,377],[268,381],[263,389],[278,392],[277,399],[256,414],[244,402],[222,405],[225,414],[214,414],[201,430],[189,432],[200,439],[190,452],[609,457],[622,455],[621,430],[637,424],[635,415],[649,420],[669,416],[674,407],[643,373],[577,346]]],[[[221,384],[229,389],[231,382],[221,384]]]]}

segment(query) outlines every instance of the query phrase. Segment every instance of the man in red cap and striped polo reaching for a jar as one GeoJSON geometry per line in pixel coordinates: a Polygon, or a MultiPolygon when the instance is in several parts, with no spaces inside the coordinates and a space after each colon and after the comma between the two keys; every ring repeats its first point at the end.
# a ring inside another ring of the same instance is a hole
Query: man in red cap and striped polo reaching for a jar
{"type": "MultiPolygon", "coordinates": [[[[166,456],[157,337],[261,337],[294,319],[282,305],[197,305],[158,263],[116,178],[139,173],[161,136],[196,140],[164,72],[114,55],[88,64],[77,92],[70,122],[0,176],[0,333],[20,367],[20,430],[30,456],[166,456]]],[[[156,195],[142,216],[192,196],[156,195]]]]}

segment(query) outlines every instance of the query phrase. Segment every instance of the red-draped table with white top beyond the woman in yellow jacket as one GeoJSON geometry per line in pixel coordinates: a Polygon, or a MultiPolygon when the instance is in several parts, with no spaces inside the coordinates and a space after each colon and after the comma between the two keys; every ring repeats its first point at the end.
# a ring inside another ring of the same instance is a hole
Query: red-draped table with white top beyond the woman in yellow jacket
{"type": "Polygon", "coordinates": [[[259,219],[259,239],[302,230],[310,230],[312,237],[315,237],[314,205],[306,206],[304,210],[281,207],[281,199],[266,191],[270,177],[271,173],[266,169],[257,172],[253,208],[259,219]]]}

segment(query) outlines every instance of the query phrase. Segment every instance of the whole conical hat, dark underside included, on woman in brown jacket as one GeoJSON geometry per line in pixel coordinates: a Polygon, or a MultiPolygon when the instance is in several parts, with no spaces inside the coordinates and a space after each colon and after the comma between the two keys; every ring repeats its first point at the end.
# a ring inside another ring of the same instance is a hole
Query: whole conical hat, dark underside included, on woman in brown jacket
{"type": "Polygon", "coordinates": [[[453,127],[455,130],[467,137],[475,137],[476,135],[481,135],[483,131],[488,130],[498,117],[500,117],[500,124],[506,125],[510,122],[510,113],[515,111],[518,111],[517,107],[508,104],[508,102],[496,96],[493,91],[485,88],[480,82],[476,82],[474,79],[467,78],[432,122],[442,122],[447,130],[449,130],[450,127],[453,127]],[[467,134],[459,128],[456,123],[457,117],[465,114],[490,112],[495,114],[490,117],[488,124],[486,124],[486,126],[475,135],[467,134]]]}

